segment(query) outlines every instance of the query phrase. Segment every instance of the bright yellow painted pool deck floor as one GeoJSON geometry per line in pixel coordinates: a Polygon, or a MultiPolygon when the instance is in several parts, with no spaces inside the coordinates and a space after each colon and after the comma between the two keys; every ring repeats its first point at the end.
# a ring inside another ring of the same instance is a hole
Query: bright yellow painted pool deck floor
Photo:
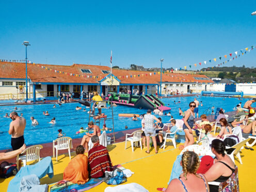
{"type": "MultiPolygon", "coordinates": [[[[159,149],[158,154],[155,154],[152,147],[150,154],[147,154],[145,149],[140,150],[140,148],[135,148],[134,152],[132,152],[130,143],[131,142],[128,142],[128,148],[126,150],[124,149],[125,142],[107,146],[113,165],[121,164],[123,167],[134,172],[132,177],[127,178],[127,182],[124,184],[138,183],[149,191],[157,191],[157,187],[167,187],[172,165],[177,155],[181,152],[181,150],[178,149],[178,146],[181,144],[178,144],[177,148],[174,149],[172,142],[167,142],[165,150],[159,149]]],[[[255,146],[252,148],[256,151],[255,146]]],[[[243,165],[241,165],[235,158],[235,164],[238,166],[240,191],[242,192],[256,191],[256,183],[254,179],[254,174],[256,172],[255,151],[247,149],[242,150],[241,157],[243,165]]],[[[74,152],[71,155],[74,157],[74,152]]],[[[59,155],[58,162],[56,162],[56,158],[52,158],[52,161],[54,166],[54,177],[50,179],[46,175],[46,177],[40,180],[41,184],[49,184],[49,191],[53,183],[62,180],[63,171],[70,162],[70,159],[68,154],[62,154],[59,155]]],[[[8,184],[12,178],[13,177],[0,179],[0,191],[7,191],[8,184]]],[[[110,185],[103,182],[88,191],[104,191],[107,186],[110,185]]]]}

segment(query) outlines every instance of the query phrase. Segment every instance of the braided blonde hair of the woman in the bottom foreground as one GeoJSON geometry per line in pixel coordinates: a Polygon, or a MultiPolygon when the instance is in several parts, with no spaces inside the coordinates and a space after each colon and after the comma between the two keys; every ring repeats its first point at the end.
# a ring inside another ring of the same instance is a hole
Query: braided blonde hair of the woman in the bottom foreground
{"type": "MultiPolygon", "coordinates": [[[[200,159],[195,152],[185,151],[181,157],[181,163],[182,163],[184,178],[185,180],[187,180],[187,173],[193,173],[193,174],[197,173],[197,170],[200,165],[200,159]]],[[[198,178],[201,178],[201,177],[198,177],[198,178]]]]}

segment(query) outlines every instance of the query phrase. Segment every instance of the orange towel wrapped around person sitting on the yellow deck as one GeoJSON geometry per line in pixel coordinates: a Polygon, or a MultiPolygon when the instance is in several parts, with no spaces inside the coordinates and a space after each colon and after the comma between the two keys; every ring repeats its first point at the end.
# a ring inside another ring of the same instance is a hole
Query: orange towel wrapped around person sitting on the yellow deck
{"type": "Polygon", "coordinates": [[[63,173],[63,180],[85,184],[88,179],[88,158],[84,154],[76,155],[63,173]]]}

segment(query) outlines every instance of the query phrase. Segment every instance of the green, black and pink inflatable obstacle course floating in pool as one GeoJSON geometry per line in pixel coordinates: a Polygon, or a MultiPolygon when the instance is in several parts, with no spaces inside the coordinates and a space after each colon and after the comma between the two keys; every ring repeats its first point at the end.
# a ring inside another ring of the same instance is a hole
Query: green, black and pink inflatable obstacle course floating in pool
{"type": "Polygon", "coordinates": [[[143,108],[154,110],[154,107],[158,107],[159,110],[171,110],[170,107],[166,107],[165,104],[153,94],[132,95],[126,93],[118,94],[115,92],[109,92],[108,101],[111,101],[117,105],[140,109],[143,108]]]}

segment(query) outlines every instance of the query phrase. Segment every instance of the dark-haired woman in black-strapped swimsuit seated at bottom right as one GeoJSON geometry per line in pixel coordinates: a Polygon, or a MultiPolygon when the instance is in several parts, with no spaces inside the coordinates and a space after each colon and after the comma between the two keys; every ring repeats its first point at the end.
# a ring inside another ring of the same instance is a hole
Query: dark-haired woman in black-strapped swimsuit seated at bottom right
{"type": "MultiPolygon", "coordinates": [[[[226,147],[223,141],[214,139],[211,146],[214,159],[213,166],[204,174],[208,182],[224,182],[227,181],[235,171],[235,164],[229,155],[225,154],[226,147]]],[[[218,191],[217,185],[209,185],[211,192],[218,191]]]]}

